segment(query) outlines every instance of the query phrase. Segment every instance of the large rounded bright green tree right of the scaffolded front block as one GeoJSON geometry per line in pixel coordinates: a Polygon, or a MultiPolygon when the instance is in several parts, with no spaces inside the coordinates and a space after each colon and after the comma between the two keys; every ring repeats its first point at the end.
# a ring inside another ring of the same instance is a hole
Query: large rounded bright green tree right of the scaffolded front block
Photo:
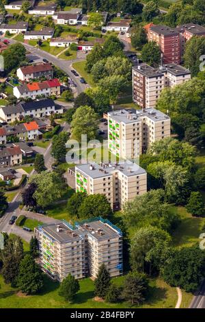
{"type": "Polygon", "coordinates": [[[131,240],[131,264],[135,271],[156,273],[165,264],[171,237],[157,227],[141,227],[131,240]]]}

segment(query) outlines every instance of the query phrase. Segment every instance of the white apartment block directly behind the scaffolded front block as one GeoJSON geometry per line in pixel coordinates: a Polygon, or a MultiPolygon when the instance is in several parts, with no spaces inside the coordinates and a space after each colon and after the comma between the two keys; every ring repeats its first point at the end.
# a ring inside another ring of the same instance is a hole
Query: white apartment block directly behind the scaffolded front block
{"type": "Polygon", "coordinates": [[[147,173],[133,162],[75,166],[76,192],[102,194],[113,210],[147,191],[147,173]]]}

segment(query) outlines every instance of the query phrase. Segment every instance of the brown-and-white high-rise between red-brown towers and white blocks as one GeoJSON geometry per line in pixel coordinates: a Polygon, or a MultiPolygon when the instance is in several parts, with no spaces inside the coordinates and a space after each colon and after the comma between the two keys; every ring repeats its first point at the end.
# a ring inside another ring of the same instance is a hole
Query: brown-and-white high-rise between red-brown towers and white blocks
{"type": "Polygon", "coordinates": [[[133,101],[141,108],[154,108],[165,87],[174,87],[191,79],[189,69],[163,64],[154,69],[147,64],[133,66],[133,101]]]}

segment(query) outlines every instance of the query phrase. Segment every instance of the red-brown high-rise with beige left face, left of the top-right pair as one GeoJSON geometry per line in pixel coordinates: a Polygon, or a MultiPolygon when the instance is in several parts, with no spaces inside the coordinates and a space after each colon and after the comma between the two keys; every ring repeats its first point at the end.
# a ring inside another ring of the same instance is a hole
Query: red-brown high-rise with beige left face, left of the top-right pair
{"type": "Polygon", "coordinates": [[[164,64],[180,64],[180,33],[176,29],[165,25],[152,25],[148,31],[148,41],[159,45],[164,64]]]}

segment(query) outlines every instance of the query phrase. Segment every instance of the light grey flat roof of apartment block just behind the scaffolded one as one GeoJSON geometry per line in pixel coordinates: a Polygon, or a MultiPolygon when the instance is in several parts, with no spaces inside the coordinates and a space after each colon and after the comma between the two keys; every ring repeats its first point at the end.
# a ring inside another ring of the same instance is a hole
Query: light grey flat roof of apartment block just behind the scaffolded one
{"type": "Polygon", "coordinates": [[[130,161],[120,161],[118,163],[109,164],[80,164],[75,167],[76,171],[83,173],[87,177],[92,177],[93,179],[98,179],[100,177],[109,177],[113,172],[119,171],[126,177],[131,177],[132,175],[141,175],[146,173],[146,171],[141,168],[136,163],[130,161]]]}

